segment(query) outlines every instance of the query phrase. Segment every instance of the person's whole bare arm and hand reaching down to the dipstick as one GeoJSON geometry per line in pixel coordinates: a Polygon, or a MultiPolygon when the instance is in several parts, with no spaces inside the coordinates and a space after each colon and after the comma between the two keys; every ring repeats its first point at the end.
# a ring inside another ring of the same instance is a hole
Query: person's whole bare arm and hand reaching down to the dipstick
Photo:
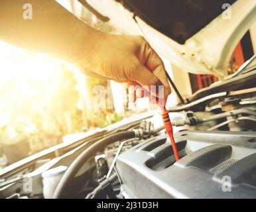
{"type": "MultiPolygon", "coordinates": [[[[164,96],[170,93],[162,60],[145,39],[100,32],[54,0],[1,0],[0,40],[76,62],[90,77],[141,85],[148,91],[157,85],[157,91],[164,87],[164,96]],[[25,3],[32,5],[32,19],[23,17],[25,3]]],[[[153,95],[159,96],[154,88],[153,95]]]]}

